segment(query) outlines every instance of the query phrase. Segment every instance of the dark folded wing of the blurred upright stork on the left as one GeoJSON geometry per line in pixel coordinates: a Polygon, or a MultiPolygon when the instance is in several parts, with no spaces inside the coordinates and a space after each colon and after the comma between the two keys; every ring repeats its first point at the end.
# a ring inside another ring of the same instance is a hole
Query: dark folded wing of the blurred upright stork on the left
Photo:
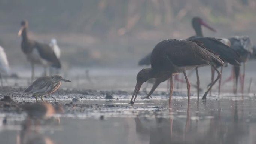
{"type": "Polygon", "coordinates": [[[54,53],[54,50],[48,45],[48,44],[43,44],[43,43],[39,43],[36,42],[36,48],[39,52],[39,55],[52,63],[52,67],[55,68],[61,68],[61,64],[59,59],[57,58],[57,56],[54,53]]]}

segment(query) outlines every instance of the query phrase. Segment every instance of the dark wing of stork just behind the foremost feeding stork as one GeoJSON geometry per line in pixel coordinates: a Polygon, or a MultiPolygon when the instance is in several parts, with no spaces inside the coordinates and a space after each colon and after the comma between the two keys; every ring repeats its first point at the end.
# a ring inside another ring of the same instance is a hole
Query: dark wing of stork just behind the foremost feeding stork
{"type": "Polygon", "coordinates": [[[204,44],[205,48],[213,51],[223,60],[232,65],[240,65],[238,62],[240,55],[234,49],[220,42],[219,40],[221,39],[216,39],[213,37],[193,37],[189,40],[200,41],[204,44]]]}

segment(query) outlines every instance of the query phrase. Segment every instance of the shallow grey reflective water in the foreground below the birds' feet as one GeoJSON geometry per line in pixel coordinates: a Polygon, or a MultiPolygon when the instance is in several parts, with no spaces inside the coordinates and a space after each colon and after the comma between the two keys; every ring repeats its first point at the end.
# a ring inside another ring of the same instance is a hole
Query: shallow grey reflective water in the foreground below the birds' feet
{"type": "MultiPolygon", "coordinates": [[[[60,124],[24,129],[24,114],[2,114],[4,144],[17,141],[48,141],[47,144],[254,144],[256,143],[255,98],[210,98],[206,102],[175,98],[140,100],[81,100],[79,104],[101,106],[58,114],[60,124]],[[23,126],[22,126],[23,125],[23,126]]],[[[74,108],[76,109],[76,108],[74,108]]],[[[28,143],[28,142],[27,142],[28,143]]]]}

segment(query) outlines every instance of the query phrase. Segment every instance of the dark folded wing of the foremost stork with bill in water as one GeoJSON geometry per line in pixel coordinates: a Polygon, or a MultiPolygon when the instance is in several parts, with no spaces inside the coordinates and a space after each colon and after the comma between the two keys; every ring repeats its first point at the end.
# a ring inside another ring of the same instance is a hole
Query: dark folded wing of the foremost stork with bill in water
{"type": "Polygon", "coordinates": [[[209,64],[214,62],[216,65],[223,65],[223,61],[214,53],[210,52],[201,42],[193,42],[191,40],[164,40],[158,43],[151,54],[152,67],[161,65],[168,59],[170,63],[183,67],[209,64]],[[164,49],[164,50],[162,50],[164,49]],[[161,53],[165,51],[165,53],[161,53]],[[156,55],[162,55],[159,58],[156,55]]]}

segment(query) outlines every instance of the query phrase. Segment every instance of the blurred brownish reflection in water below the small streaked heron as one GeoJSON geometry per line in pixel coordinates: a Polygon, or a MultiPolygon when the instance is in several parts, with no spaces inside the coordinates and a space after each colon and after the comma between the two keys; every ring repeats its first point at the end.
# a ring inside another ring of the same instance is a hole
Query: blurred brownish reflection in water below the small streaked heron
{"type": "Polygon", "coordinates": [[[42,124],[59,125],[60,118],[52,116],[56,113],[63,113],[63,108],[59,104],[54,107],[50,103],[37,102],[25,104],[24,110],[27,118],[22,123],[22,130],[17,136],[17,144],[54,144],[51,138],[39,132],[39,126],[42,124]]]}

